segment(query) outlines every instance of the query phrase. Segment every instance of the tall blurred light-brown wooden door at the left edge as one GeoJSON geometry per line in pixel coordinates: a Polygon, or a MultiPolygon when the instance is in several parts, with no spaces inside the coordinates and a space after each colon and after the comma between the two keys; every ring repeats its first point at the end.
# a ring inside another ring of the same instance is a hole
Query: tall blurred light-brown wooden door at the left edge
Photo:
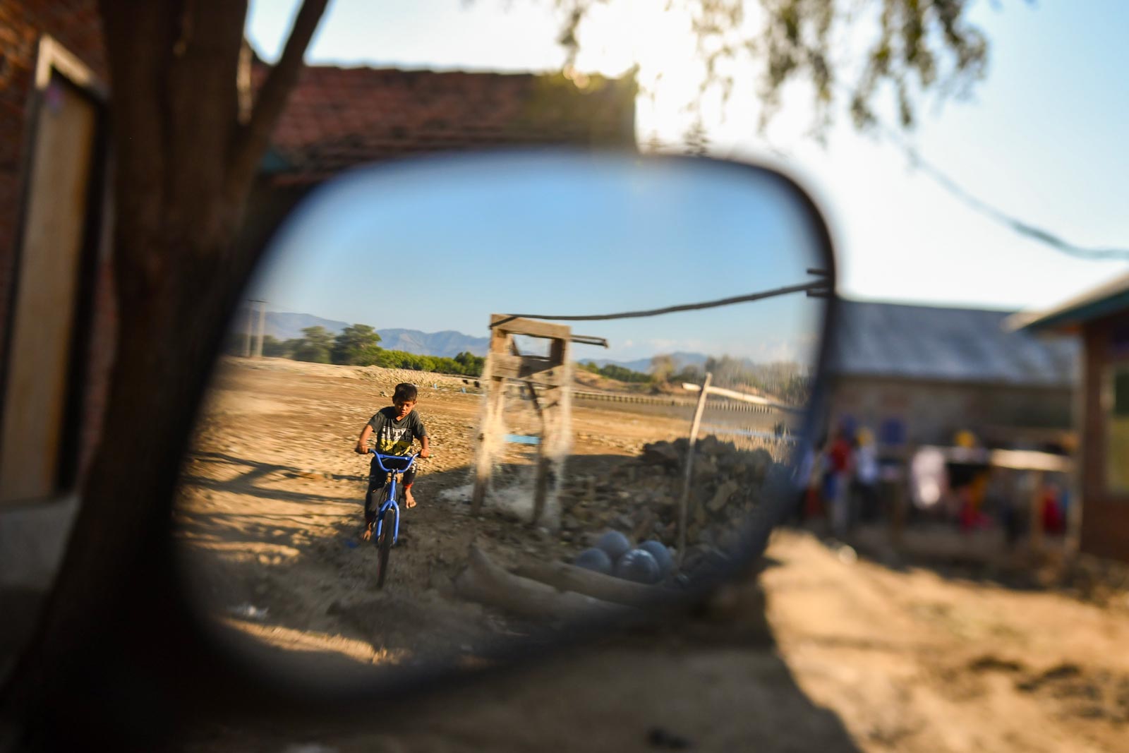
{"type": "Polygon", "coordinates": [[[46,497],[77,462],[76,358],[89,259],[98,103],[52,71],[35,108],[3,378],[0,504],[46,497]],[[73,459],[72,459],[73,458],[73,459]]]}

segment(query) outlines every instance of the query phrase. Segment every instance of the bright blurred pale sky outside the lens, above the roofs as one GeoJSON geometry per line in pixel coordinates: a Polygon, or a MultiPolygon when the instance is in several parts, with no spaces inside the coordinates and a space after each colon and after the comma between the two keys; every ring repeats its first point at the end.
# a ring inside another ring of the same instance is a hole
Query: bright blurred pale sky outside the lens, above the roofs
{"type": "MultiPolygon", "coordinates": [[[[254,0],[248,34],[278,54],[295,0],[254,0]]],[[[466,70],[550,70],[558,18],[548,0],[333,0],[307,53],[312,63],[466,70]],[[507,10],[508,8],[508,10],[507,10]]],[[[654,99],[641,98],[640,141],[675,141],[694,79],[684,19],[653,0],[616,0],[581,28],[578,68],[609,75],[633,62],[654,99]]],[[[988,34],[988,78],[969,100],[922,100],[908,139],[982,200],[1082,245],[1129,246],[1129,3],[1014,0],[973,3],[988,34]],[[999,6],[998,8],[995,6],[999,6]]],[[[708,113],[714,154],[768,160],[796,175],[828,217],[840,292],[850,297],[1045,307],[1129,269],[1064,256],[977,213],[914,170],[889,140],[856,133],[846,117],[825,146],[805,135],[806,93],[787,91],[764,134],[758,102],[737,94],[708,113]],[[723,116],[724,115],[724,116],[723,116]]],[[[665,301],[663,301],[665,303],[665,301]]]]}

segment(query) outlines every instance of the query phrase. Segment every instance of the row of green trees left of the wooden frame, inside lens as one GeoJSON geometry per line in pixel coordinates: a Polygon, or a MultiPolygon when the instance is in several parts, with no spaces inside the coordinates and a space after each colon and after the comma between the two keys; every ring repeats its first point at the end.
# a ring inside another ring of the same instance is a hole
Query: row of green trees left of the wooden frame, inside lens
{"type": "MultiPolygon", "coordinates": [[[[300,338],[279,340],[271,335],[263,338],[263,356],[290,358],[310,364],[336,364],[340,366],[379,366],[392,369],[413,369],[437,374],[481,376],[485,359],[464,351],[454,358],[446,356],[421,356],[403,350],[380,348],[380,335],[367,324],[352,324],[334,335],[323,326],[310,326],[301,331],[300,338]]],[[[228,351],[242,353],[242,338],[233,339],[228,351]]]]}

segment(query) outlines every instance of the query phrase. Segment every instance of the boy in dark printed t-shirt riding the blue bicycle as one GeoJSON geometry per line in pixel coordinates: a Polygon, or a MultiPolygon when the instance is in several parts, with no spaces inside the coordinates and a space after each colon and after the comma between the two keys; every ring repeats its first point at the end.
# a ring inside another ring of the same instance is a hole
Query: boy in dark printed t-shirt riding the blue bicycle
{"type": "MultiPolygon", "coordinates": [[[[396,391],[392,395],[392,405],[382,408],[373,418],[368,420],[361,429],[357,439],[357,447],[353,452],[365,455],[368,453],[369,437],[376,438],[376,452],[382,455],[406,456],[411,454],[412,443],[420,440],[420,457],[428,457],[427,429],[419,413],[415,412],[415,401],[419,391],[413,384],[401,383],[396,385],[396,391]]],[[[387,481],[387,474],[380,469],[377,458],[374,456],[368,470],[368,491],[365,493],[365,533],[361,537],[371,539],[373,525],[376,523],[376,513],[380,509],[380,490],[387,481]]],[[[406,507],[415,507],[415,498],[412,496],[412,483],[415,481],[415,469],[404,472],[404,504],[406,507]]]]}

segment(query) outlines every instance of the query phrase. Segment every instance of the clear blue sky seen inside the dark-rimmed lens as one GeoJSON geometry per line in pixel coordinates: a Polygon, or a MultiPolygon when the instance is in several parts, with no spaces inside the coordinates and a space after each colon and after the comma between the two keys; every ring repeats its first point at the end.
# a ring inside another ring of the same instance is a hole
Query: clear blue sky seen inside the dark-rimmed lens
{"type": "MultiPolygon", "coordinates": [[[[491,314],[607,314],[809,281],[811,218],[764,174],[632,158],[463,157],[353,173],[285,227],[254,297],[275,310],[484,335],[491,314]]],[[[574,324],[620,360],[811,357],[819,299],[574,324]]]]}

